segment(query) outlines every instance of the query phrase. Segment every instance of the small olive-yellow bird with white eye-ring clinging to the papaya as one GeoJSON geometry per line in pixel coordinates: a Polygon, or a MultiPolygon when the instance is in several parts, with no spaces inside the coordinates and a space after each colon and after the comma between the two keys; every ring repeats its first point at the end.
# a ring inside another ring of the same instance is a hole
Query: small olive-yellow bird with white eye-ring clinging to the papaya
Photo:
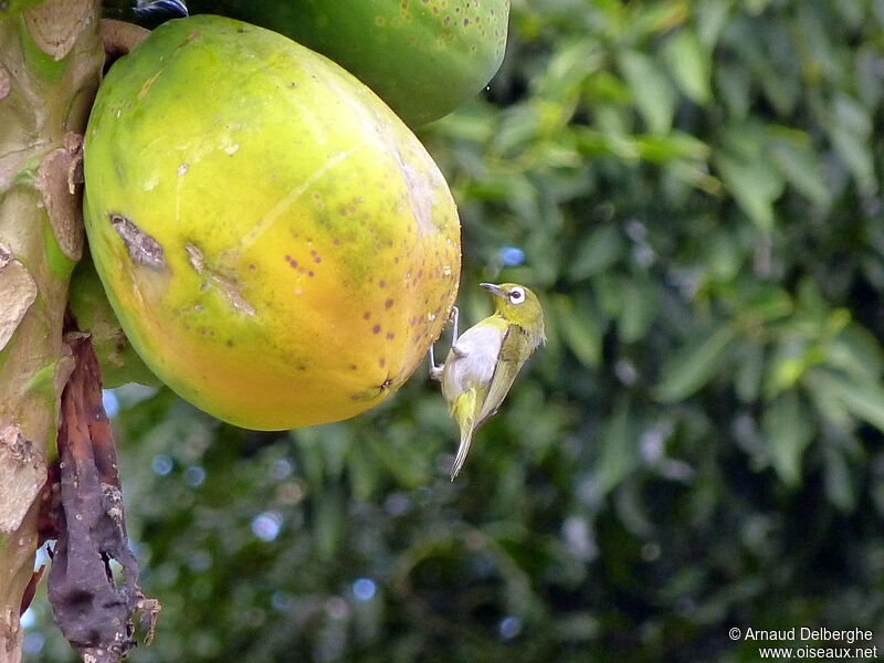
{"type": "Polygon", "coordinates": [[[430,348],[430,377],[442,382],[442,396],[461,429],[451,481],[463,467],[473,432],[497,412],[522,366],[546,340],[544,312],[532,291],[515,283],[480,285],[494,296],[494,314],[457,336],[454,308],[453,340],[443,365],[435,365],[430,348]]]}

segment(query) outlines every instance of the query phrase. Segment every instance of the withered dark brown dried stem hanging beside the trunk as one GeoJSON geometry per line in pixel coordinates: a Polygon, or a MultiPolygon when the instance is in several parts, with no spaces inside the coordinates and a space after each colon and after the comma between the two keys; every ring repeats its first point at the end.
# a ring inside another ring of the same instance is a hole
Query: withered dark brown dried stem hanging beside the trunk
{"type": "Polygon", "coordinates": [[[62,394],[61,504],[49,598],[55,622],[84,661],[118,663],[135,646],[136,610],[144,608],[152,623],[159,604],[141,593],[138,564],[128,548],[98,361],[87,335],[70,334],[69,343],[76,367],[62,394]],[[119,583],[110,560],[123,569],[119,583]]]}

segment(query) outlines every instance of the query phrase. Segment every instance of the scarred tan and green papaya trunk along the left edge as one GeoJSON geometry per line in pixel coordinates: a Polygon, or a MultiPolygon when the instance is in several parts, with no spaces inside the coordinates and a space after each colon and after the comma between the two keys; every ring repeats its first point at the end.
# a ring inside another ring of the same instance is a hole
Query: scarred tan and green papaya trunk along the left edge
{"type": "Polygon", "coordinates": [[[21,660],[39,497],[72,369],[62,327],[83,246],[82,135],[104,61],[95,0],[12,17],[9,7],[0,2],[0,663],[21,660]]]}

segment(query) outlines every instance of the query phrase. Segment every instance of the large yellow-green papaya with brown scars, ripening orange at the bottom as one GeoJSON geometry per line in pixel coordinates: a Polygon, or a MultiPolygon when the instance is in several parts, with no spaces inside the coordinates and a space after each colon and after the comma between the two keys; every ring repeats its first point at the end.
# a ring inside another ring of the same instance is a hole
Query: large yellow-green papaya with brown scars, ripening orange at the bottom
{"type": "Polygon", "coordinates": [[[244,428],[389,397],[440,334],[460,222],[368,87],[232,19],[169,21],[110,67],[84,145],[95,267],[150,370],[244,428]]]}

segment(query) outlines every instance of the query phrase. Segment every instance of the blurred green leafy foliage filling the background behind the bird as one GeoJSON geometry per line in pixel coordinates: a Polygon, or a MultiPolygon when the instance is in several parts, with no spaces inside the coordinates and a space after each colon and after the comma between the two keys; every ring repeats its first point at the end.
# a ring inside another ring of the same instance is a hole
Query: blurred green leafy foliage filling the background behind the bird
{"type": "Polygon", "coordinates": [[[424,138],[462,320],[526,283],[547,346],[453,484],[422,376],[291,434],[124,407],[165,604],[134,661],[756,661],[730,627],[880,627],[884,3],[522,0],[512,28],[424,138]]]}

